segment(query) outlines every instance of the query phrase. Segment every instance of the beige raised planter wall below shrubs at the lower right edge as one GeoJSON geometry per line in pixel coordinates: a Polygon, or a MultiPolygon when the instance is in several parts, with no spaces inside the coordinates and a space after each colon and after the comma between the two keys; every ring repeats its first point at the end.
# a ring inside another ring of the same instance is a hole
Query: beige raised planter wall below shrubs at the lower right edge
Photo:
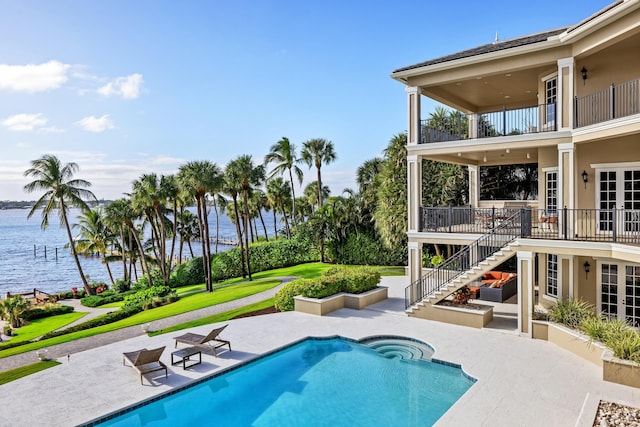
{"type": "Polygon", "coordinates": [[[613,352],[588,336],[562,325],[539,320],[533,321],[533,338],[554,343],[602,368],[605,381],[640,388],[640,367],[613,357],[613,352]]]}

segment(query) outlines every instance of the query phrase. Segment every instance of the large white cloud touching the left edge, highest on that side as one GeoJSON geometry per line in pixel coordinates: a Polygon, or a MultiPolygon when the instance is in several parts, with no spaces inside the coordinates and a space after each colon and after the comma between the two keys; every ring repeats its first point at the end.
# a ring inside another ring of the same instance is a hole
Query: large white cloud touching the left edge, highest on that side
{"type": "Polygon", "coordinates": [[[57,89],[67,81],[69,67],[59,61],[38,65],[0,64],[0,90],[34,93],[57,89]]]}

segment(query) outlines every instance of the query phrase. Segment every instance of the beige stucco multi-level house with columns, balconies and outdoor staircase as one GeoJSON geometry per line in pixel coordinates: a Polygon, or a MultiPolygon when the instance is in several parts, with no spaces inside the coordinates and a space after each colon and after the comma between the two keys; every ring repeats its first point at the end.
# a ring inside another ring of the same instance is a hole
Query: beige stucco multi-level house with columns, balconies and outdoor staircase
{"type": "MultiPolygon", "coordinates": [[[[588,11],[587,11],[588,13],[588,11]]],[[[415,65],[406,86],[410,313],[517,259],[518,329],[536,304],[580,298],[640,325],[640,0],[567,27],[415,65]],[[456,111],[437,126],[428,97],[456,111]],[[422,160],[464,165],[469,205],[424,206],[422,160]],[[484,166],[537,165],[537,197],[483,200],[484,166]],[[422,246],[458,245],[439,270],[422,246]]]]}

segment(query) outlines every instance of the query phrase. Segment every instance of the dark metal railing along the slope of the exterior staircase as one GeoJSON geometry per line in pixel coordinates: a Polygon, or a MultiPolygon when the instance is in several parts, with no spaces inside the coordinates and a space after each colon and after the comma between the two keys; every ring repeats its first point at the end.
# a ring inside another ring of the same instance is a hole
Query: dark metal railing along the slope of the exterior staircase
{"type": "Polygon", "coordinates": [[[519,225],[523,219],[521,213],[520,210],[517,210],[510,217],[504,218],[487,234],[407,286],[404,291],[405,309],[442,289],[444,285],[480,264],[488,256],[515,240],[516,237],[520,237],[519,225]]]}

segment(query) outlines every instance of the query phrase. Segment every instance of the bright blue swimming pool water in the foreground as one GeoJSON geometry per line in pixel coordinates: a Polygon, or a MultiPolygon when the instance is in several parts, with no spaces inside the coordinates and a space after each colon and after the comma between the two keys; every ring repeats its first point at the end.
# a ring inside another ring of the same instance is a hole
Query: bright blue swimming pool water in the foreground
{"type": "Polygon", "coordinates": [[[474,379],[342,338],[307,339],[101,426],[429,426],[474,379]]]}

